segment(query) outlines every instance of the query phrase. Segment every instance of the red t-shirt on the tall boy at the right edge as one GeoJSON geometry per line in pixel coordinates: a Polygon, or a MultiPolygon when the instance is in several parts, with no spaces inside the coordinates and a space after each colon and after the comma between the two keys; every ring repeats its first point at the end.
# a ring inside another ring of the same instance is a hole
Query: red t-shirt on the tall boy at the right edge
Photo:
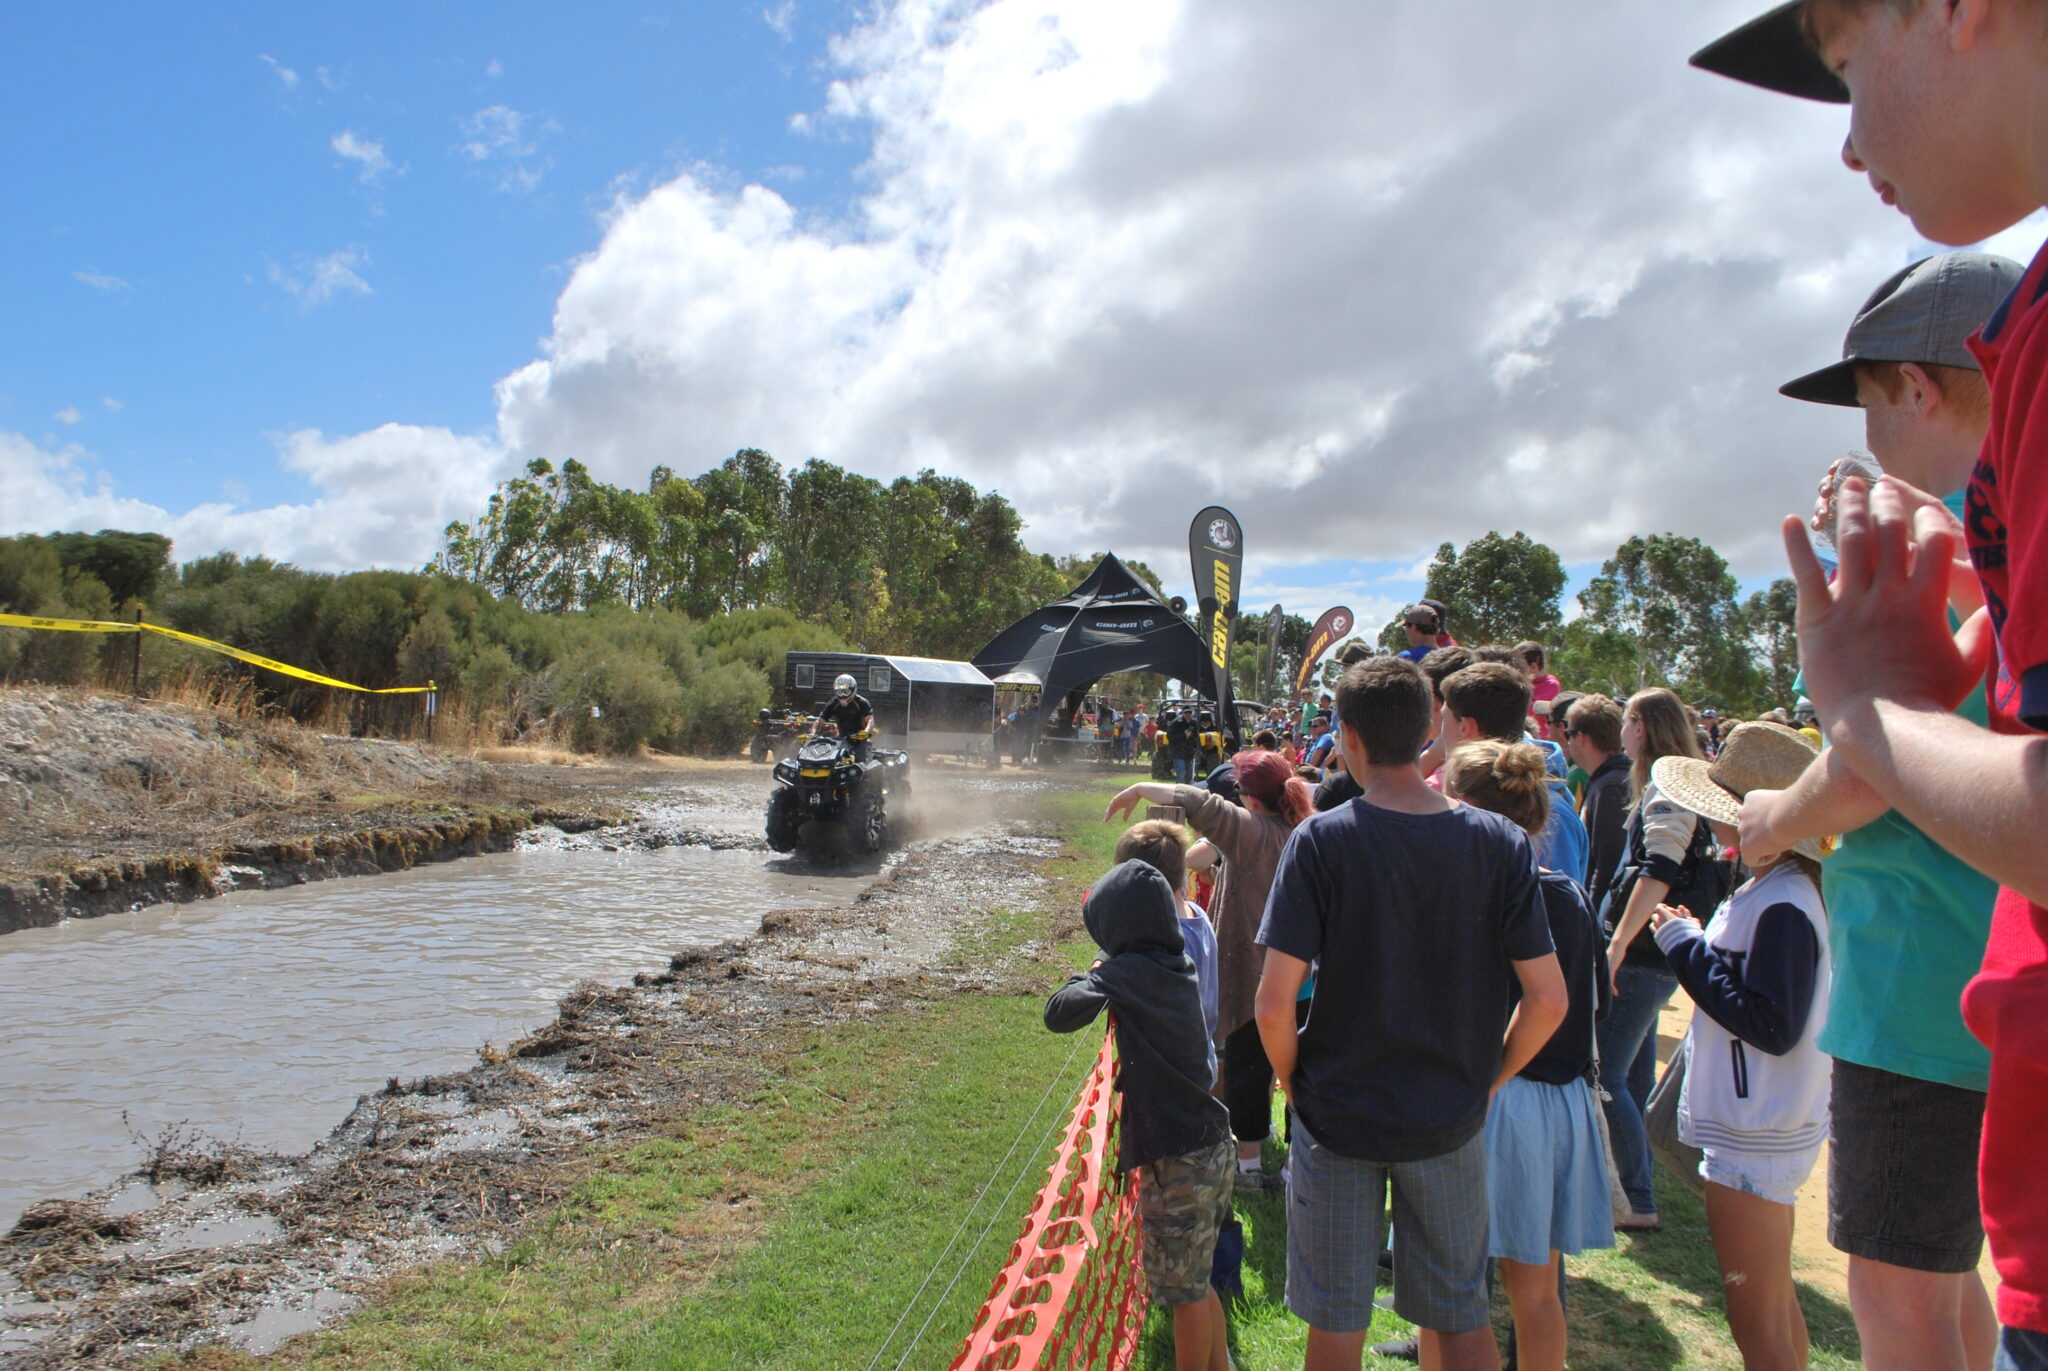
{"type": "MultiPolygon", "coordinates": [[[[1991,728],[2048,732],[2048,248],[1970,350],[1991,381],[1991,430],[1964,498],[1970,562],[1997,652],[1991,728]]],[[[2048,834],[2048,816],[2042,816],[2048,834]]],[[[1999,1322],[2048,1332],[2048,910],[1999,891],[1985,967],[1962,1016],[1991,1049],[1978,1189],[1999,1269],[1999,1322]]]]}

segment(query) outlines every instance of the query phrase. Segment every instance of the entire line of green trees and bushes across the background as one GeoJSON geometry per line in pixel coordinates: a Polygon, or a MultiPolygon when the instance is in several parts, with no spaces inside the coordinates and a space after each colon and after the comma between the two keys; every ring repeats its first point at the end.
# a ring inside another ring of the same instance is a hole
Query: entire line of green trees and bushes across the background
{"type": "MultiPolygon", "coordinates": [[[[420,572],[319,574],[221,553],[172,564],[156,533],[0,539],[0,611],[129,619],[213,637],[365,687],[434,680],[444,717],[479,738],[596,750],[729,752],[774,697],[791,650],[973,656],[1098,557],[1030,553],[993,492],[920,471],[883,484],[827,461],[780,467],[743,449],[696,477],[657,467],[645,490],[535,461],[471,523],[449,525],[420,572]]],[[[1126,566],[1155,592],[1161,578],[1126,566]]],[[[1460,641],[1536,639],[1575,689],[1671,684],[1735,713],[1790,703],[1792,582],[1737,603],[1726,562],[1698,539],[1616,549],[1563,621],[1565,570],[1524,533],[1444,543],[1427,590],[1460,641]]],[[[1264,615],[1243,609],[1237,693],[1292,684],[1309,619],[1282,615],[1266,678],[1264,615]]],[[[1380,641],[1405,646],[1399,623],[1380,641]]],[[[127,680],[137,639],[0,629],[0,680],[127,680]]],[[[1327,670],[1327,668],[1325,668],[1327,670]]],[[[360,697],[252,672],[145,635],[147,689],[242,680],[328,728],[365,725],[360,697]]],[[[1141,695],[1161,680],[1106,682],[1141,695]]],[[[379,732],[418,732],[416,697],[375,703],[379,732]],[[414,711],[414,713],[408,713],[414,711]]]]}

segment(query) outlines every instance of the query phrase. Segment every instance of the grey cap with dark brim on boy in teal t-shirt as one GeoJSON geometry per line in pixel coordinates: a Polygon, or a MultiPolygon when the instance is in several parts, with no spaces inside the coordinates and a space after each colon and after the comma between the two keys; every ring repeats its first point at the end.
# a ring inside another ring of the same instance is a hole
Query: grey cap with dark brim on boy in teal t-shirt
{"type": "Polygon", "coordinates": [[[1780,396],[1855,406],[1855,363],[1921,363],[1980,371],[1964,346],[2025,268],[1989,252],[1913,262],[1872,291],[1841,340],[1841,361],[1778,387],[1780,396]]]}

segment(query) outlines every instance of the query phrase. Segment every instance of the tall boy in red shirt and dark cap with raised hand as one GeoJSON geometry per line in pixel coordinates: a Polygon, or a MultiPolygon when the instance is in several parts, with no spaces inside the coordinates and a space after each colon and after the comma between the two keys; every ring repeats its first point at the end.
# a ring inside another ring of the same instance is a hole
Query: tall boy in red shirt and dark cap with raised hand
{"type": "MultiPolygon", "coordinates": [[[[1849,105],[1841,158],[1944,244],[2048,203],[2048,6],[1794,0],[1694,55],[1849,105]]],[[[1829,582],[1786,518],[1806,693],[1827,764],[1997,879],[1964,1019],[1991,1049],[1978,1193],[1999,1269],[1999,1367],[2048,1369],[2048,250],[1972,350],[1991,426],[1964,518],[1896,477],[1849,480],[1829,582]],[[1968,547],[1974,578],[1958,574],[1968,547]],[[1966,615],[1950,633],[1948,611],[1966,615]],[[1989,672],[1989,674],[1987,674],[1989,672]],[[1952,713],[1985,678],[1991,728],[1952,713]]]]}

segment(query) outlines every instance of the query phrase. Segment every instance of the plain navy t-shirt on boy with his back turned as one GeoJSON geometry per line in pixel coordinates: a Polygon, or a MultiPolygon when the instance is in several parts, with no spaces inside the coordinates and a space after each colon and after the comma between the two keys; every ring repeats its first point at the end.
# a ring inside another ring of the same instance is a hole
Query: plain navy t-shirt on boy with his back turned
{"type": "Polygon", "coordinates": [[[1511,961],[1550,953],[1528,834],[1352,799],[1280,853],[1257,943],[1317,963],[1294,1109],[1331,1152],[1419,1162],[1487,1121],[1511,961]]]}

